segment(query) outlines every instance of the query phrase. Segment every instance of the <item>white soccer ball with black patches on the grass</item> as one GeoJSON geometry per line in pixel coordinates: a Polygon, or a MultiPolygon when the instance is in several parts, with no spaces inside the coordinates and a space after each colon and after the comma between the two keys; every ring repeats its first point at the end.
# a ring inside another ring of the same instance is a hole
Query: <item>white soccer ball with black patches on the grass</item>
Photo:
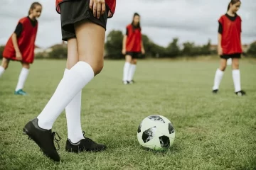
{"type": "Polygon", "coordinates": [[[175,131],[171,121],[162,115],[150,115],[139,125],[137,138],[142,147],[165,150],[174,144],[175,131]]]}

